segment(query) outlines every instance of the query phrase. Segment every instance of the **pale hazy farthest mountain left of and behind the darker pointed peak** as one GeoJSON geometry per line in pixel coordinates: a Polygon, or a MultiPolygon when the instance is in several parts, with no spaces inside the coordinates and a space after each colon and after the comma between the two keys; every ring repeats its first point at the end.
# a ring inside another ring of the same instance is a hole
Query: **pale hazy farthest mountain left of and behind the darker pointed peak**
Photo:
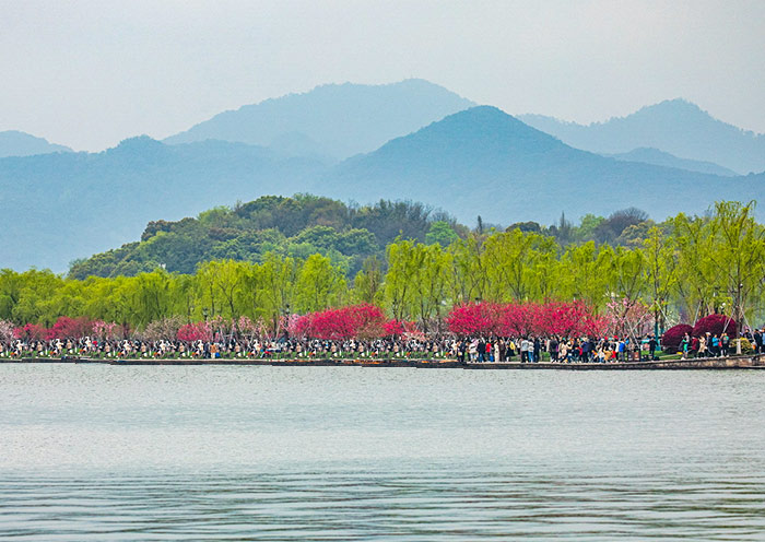
{"type": "Polygon", "coordinates": [[[205,139],[270,145],[285,134],[318,142],[334,158],[369,152],[474,104],[421,79],[385,85],[329,84],[221,113],[166,143],[205,139]]]}

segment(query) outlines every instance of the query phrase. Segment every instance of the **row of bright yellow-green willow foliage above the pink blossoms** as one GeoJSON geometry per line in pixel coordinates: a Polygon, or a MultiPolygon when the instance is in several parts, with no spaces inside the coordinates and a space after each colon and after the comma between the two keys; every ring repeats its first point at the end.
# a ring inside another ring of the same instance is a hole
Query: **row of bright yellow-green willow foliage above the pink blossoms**
{"type": "Polygon", "coordinates": [[[428,329],[464,302],[581,299],[602,310],[626,297],[650,307],[661,327],[714,311],[757,325],[765,304],[765,228],[753,208],[720,202],[708,216],[679,214],[629,248],[593,240],[564,247],[520,228],[473,232],[446,247],[399,238],[385,258],[367,258],[353,280],[320,254],[269,252],[257,263],[212,260],[193,274],[157,269],[76,280],[2,270],[0,319],[49,327],[59,316],[86,316],[140,329],[173,315],[275,322],[287,313],[375,303],[428,329]]]}

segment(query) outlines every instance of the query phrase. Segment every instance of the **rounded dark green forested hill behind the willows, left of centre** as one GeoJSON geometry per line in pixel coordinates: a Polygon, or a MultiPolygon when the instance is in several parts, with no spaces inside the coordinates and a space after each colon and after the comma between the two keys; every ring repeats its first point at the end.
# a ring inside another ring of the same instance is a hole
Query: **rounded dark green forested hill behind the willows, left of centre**
{"type": "Polygon", "coordinates": [[[466,229],[421,203],[349,207],[308,195],[267,196],[233,209],[211,209],[196,219],[150,222],[140,241],[76,261],[69,274],[133,275],[158,267],[193,273],[203,261],[260,261],[274,252],[296,258],[322,254],[352,275],[367,257],[384,259],[386,245],[398,236],[448,245],[456,232],[466,229]]]}

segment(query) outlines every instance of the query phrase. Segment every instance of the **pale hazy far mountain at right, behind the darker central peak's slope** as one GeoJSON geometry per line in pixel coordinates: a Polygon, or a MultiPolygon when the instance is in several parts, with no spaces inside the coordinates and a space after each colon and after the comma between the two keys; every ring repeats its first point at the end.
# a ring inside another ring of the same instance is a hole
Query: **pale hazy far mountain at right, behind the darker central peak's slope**
{"type": "Polygon", "coordinates": [[[616,154],[649,146],[683,158],[713,162],[738,173],[765,170],[765,134],[717,120],[697,105],[680,98],[587,126],[542,115],[518,118],[586,151],[616,154]]]}

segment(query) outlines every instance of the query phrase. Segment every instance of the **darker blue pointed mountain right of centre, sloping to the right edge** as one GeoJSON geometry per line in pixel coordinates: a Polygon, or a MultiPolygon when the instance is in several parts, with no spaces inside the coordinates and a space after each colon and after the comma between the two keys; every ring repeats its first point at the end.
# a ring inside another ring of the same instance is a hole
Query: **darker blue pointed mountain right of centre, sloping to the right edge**
{"type": "Polygon", "coordinates": [[[573,149],[494,107],[457,113],[337,166],[322,193],[373,201],[397,195],[462,221],[551,223],[635,205],[655,219],[715,200],[758,198],[763,176],[718,177],[573,149]]]}

